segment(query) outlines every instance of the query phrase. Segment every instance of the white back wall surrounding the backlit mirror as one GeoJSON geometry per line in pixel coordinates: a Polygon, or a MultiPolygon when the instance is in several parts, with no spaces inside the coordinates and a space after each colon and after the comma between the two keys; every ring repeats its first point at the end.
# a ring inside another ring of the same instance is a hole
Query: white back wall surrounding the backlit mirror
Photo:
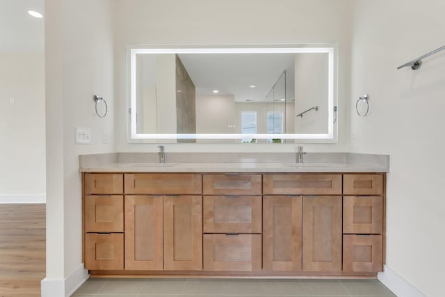
{"type": "MultiPolygon", "coordinates": [[[[339,45],[339,144],[307,150],[344,151],[348,145],[350,9],[352,0],[120,0],[115,23],[116,149],[154,152],[156,145],[127,143],[127,45],[270,44],[339,45]],[[230,19],[230,22],[227,22],[230,19]]],[[[167,152],[280,151],[295,145],[175,144],[167,152]]]]}

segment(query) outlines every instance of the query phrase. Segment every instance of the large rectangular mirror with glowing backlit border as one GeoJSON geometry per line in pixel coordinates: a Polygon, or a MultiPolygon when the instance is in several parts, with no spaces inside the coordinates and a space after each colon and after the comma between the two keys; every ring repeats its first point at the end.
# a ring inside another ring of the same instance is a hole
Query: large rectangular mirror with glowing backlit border
{"type": "Polygon", "coordinates": [[[335,48],[130,47],[129,141],[337,140],[335,48]]]}

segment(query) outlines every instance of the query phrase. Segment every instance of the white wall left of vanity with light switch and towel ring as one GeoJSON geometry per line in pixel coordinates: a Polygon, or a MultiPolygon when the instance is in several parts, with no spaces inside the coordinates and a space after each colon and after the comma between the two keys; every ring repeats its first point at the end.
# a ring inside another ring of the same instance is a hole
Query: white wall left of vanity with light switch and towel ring
{"type": "Polygon", "coordinates": [[[45,3],[47,279],[42,282],[45,297],[69,293],[72,288],[65,278],[82,264],[79,154],[114,151],[113,3],[109,0],[45,3]],[[95,113],[92,100],[95,94],[108,103],[105,118],[95,113]],[[75,127],[91,129],[90,145],[74,143],[75,127]],[[103,132],[108,143],[102,142],[103,132]],[[65,292],[51,295],[44,291],[53,282],[65,292]]]}

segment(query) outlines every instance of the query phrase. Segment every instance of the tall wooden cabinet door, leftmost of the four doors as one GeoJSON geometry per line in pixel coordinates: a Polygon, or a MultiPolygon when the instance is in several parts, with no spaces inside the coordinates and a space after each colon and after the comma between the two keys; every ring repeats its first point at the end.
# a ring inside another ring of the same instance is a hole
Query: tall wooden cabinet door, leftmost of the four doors
{"type": "Polygon", "coordinates": [[[125,196],[125,269],[163,270],[162,196],[125,196]]]}

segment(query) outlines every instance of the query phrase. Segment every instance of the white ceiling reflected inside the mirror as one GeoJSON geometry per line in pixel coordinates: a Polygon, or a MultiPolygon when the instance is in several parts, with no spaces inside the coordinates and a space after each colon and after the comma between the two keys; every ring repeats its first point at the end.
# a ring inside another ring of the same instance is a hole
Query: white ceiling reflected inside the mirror
{"type": "MultiPolygon", "coordinates": [[[[198,95],[234,95],[236,102],[270,102],[270,97],[266,99],[266,95],[284,70],[293,72],[295,60],[295,54],[273,53],[178,56],[195,83],[198,95]],[[249,88],[250,85],[256,88],[249,88]],[[213,90],[219,90],[219,93],[214,94],[213,90]]],[[[282,94],[275,95],[284,97],[282,94]]]]}

